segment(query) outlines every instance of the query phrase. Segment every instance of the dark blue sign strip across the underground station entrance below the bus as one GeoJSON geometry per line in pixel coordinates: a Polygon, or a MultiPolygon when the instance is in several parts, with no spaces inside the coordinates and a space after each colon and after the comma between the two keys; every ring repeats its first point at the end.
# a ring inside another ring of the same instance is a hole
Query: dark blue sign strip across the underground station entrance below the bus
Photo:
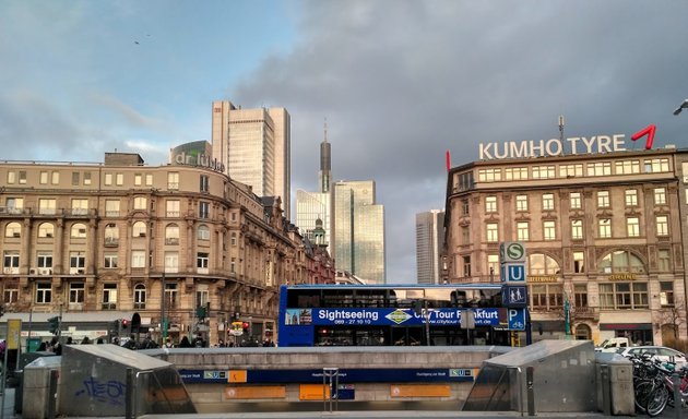
{"type": "MultiPolygon", "coordinates": [[[[227,383],[226,370],[179,370],[186,384],[190,383],[227,383]]],[[[471,369],[439,368],[353,368],[340,369],[340,383],[447,383],[472,382],[471,369]]],[[[322,383],[322,369],[318,370],[247,370],[247,384],[259,383],[322,383]]]]}

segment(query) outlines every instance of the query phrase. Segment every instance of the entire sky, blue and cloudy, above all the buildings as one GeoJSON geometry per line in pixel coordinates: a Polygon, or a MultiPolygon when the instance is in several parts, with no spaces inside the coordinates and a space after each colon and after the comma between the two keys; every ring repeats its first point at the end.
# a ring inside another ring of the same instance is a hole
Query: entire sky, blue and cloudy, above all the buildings
{"type": "MultiPolygon", "coordinates": [[[[209,140],[213,100],[292,116],[292,193],[375,180],[387,280],[478,144],[624,134],[688,147],[684,0],[0,0],[0,159],[209,140]]],[[[632,143],[642,148],[644,144],[632,143]]]]}

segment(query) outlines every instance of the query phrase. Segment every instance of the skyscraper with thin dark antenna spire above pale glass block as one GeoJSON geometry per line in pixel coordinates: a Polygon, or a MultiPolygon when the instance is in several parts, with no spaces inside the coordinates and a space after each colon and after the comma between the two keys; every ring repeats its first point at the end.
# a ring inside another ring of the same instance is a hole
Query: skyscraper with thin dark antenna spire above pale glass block
{"type": "Polygon", "coordinates": [[[324,140],[320,143],[320,171],[318,175],[320,191],[308,192],[300,189],[296,191],[296,226],[299,228],[301,235],[313,240],[312,231],[316,228],[317,222],[321,220],[322,227],[325,230],[324,243],[322,244],[330,244],[331,242],[331,147],[328,142],[328,124],[325,123],[324,140]]]}

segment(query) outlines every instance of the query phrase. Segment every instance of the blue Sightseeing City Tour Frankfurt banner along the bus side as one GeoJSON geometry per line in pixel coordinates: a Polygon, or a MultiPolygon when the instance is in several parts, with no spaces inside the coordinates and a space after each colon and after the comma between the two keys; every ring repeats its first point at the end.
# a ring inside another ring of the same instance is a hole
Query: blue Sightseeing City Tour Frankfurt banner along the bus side
{"type": "MultiPolygon", "coordinates": [[[[427,318],[432,326],[456,326],[461,324],[461,311],[465,309],[429,309],[427,318]]],[[[498,326],[497,308],[474,308],[475,324],[498,326]]],[[[426,313],[412,309],[287,309],[285,326],[332,326],[332,325],[378,325],[378,326],[420,326],[426,322],[426,313]]],[[[281,332],[282,333],[282,332],[281,332]]]]}

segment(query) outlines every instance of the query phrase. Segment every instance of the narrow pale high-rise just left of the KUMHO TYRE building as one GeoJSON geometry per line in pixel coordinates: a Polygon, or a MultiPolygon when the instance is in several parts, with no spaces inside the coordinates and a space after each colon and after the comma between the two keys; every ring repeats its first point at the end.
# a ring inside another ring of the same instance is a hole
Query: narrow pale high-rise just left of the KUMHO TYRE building
{"type": "Polygon", "coordinates": [[[444,212],[430,210],[416,214],[416,268],[418,284],[440,284],[444,242],[444,212]]]}

